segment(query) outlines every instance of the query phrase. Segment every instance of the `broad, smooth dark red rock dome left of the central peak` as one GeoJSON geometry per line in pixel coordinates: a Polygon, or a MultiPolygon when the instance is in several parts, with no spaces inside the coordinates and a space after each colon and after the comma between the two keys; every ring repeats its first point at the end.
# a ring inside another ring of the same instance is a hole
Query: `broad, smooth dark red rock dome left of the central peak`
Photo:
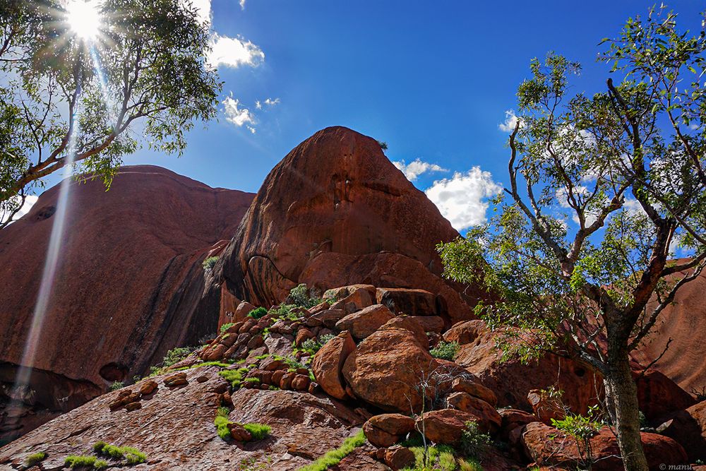
{"type": "MultiPolygon", "coordinates": [[[[0,231],[4,384],[22,361],[58,193],[58,186],[45,191],[28,215],[0,231]]],[[[81,391],[83,403],[214,331],[218,306],[201,301],[208,276],[201,261],[232,237],[252,198],[151,166],[124,167],[110,191],[100,181],[72,182],[34,360],[47,374],[32,375],[30,387],[53,388],[52,378],[61,378],[61,389],[81,391]]],[[[49,410],[59,406],[46,402],[49,410]]]]}

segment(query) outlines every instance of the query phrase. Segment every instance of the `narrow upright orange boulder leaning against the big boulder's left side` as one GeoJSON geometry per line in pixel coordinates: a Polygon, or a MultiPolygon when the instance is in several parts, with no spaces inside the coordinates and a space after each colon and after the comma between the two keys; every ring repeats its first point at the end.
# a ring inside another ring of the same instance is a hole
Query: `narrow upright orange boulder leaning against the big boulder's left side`
{"type": "Polygon", "coordinates": [[[346,330],[326,342],[313,356],[311,362],[313,376],[321,389],[333,398],[347,397],[342,369],[349,354],[355,349],[355,342],[346,330]]]}

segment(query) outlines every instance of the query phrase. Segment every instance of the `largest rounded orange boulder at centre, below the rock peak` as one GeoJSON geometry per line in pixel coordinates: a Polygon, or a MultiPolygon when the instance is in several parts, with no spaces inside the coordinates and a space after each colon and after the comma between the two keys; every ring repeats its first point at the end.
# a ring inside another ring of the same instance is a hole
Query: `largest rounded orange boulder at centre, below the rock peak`
{"type": "Polygon", "coordinates": [[[362,400],[393,412],[419,410],[415,388],[438,363],[409,330],[378,330],[349,354],[343,376],[362,400]]]}

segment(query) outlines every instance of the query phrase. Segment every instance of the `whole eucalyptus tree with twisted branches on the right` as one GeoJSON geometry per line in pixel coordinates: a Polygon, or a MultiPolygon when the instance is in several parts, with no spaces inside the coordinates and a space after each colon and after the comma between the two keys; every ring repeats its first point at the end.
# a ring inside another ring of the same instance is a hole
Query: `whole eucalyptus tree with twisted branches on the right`
{"type": "Polygon", "coordinates": [[[506,353],[601,372],[623,463],[647,470],[630,352],[706,261],[706,41],[660,8],[602,44],[611,78],[592,96],[570,94],[579,64],[532,60],[508,188],[488,224],[439,250],[448,278],[502,299],[477,312],[506,353]]]}

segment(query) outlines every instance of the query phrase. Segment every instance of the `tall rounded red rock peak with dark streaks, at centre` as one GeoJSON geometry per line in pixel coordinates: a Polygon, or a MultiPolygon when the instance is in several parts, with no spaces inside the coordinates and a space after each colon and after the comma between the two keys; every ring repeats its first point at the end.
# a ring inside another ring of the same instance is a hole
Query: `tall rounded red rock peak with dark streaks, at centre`
{"type": "Polygon", "coordinates": [[[235,297],[254,304],[281,302],[299,282],[322,292],[364,282],[443,294],[450,316],[469,318],[440,278],[435,246],[455,237],[377,141],[332,127],[270,172],[225,249],[222,276],[235,297]]]}

